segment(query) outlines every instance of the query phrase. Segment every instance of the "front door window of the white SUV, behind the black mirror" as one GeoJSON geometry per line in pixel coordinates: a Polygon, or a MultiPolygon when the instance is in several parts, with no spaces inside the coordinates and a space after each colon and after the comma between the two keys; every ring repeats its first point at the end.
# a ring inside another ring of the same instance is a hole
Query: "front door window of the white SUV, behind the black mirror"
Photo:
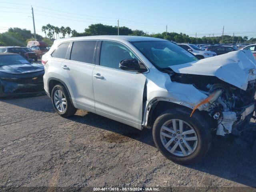
{"type": "Polygon", "coordinates": [[[126,46],[110,41],[103,41],[100,50],[100,65],[119,69],[119,63],[125,59],[137,59],[126,46]]]}

